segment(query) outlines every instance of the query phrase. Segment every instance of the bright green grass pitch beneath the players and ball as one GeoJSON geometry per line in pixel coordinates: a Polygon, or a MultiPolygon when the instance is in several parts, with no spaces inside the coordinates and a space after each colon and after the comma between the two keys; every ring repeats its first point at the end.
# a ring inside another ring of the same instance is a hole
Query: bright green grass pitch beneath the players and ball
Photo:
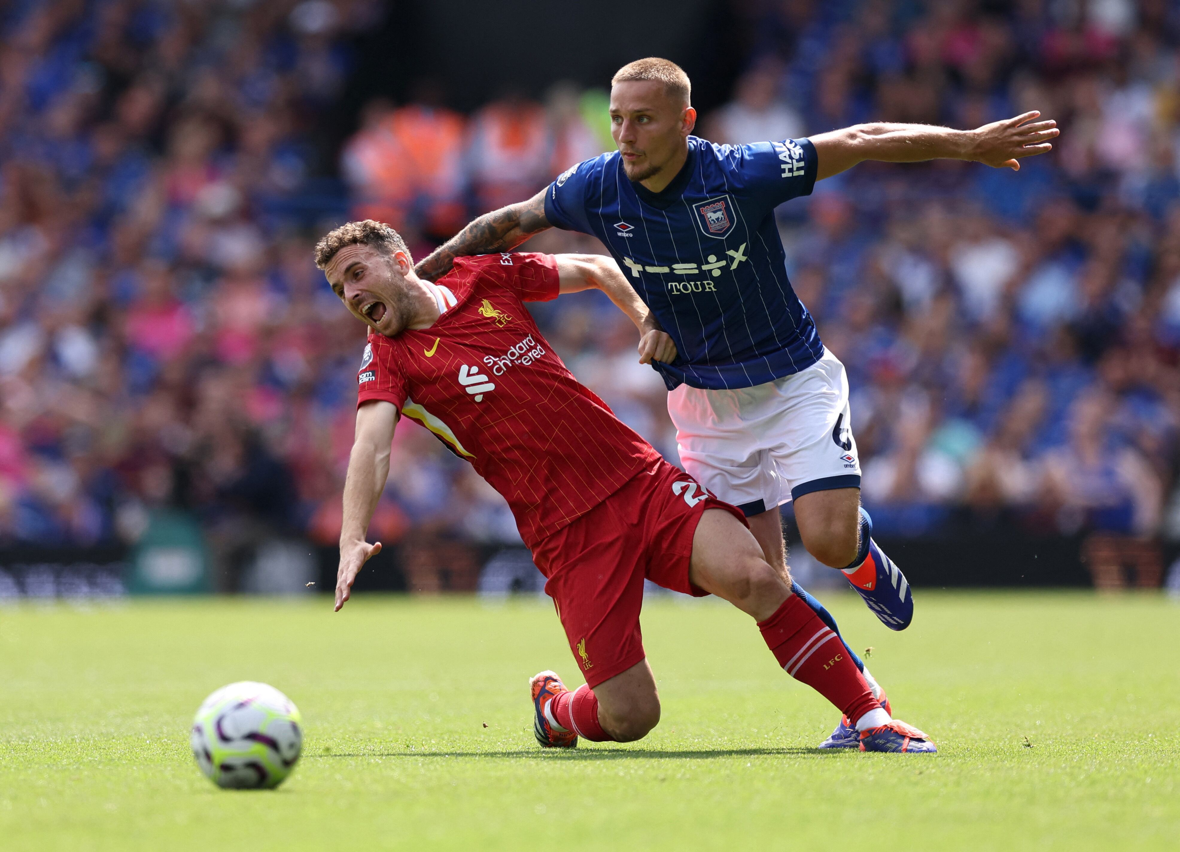
{"type": "Polygon", "coordinates": [[[1148,850],[1180,846],[1180,607],[919,590],[905,633],[830,594],[935,757],[814,749],[837,713],[715,602],[649,602],[663,721],[543,752],[526,679],[581,682],[551,606],[355,597],[0,609],[0,848],[1148,850]],[[215,788],[188,728],[284,691],[303,758],[215,788]]]}

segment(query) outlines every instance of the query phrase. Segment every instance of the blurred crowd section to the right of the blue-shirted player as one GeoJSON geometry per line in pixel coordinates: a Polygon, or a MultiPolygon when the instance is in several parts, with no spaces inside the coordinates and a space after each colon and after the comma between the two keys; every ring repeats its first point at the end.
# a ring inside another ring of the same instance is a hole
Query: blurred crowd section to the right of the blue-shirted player
{"type": "Polygon", "coordinates": [[[883,533],[1086,534],[1099,584],[1160,579],[1180,425],[1180,6],[786,2],[715,140],[1041,111],[1020,172],[860,166],[782,218],[845,362],[883,533]],[[789,132],[789,131],[788,131],[789,132]]]}

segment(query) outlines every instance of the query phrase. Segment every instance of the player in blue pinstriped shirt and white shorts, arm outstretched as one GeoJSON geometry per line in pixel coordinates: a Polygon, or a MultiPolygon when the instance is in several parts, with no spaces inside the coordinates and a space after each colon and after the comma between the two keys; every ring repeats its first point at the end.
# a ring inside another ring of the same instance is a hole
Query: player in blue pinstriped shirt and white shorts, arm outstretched
{"type": "MultiPolygon", "coordinates": [[[[865,124],[807,139],[716,145],[691,136],[687,74],[656,58],[615,74],[610,114],[617,151],[479,217],[417,272],[434,279],[457,256],[509,251],[552,226],[597,237],[651,311],[640,359],[668,385],[686,471],[745,513],[767,562],[787,580],[779,507],[793,502],[804,547],[844,572],[883,623],[904,629],[913,595],[860,507],[844,365],[791,288],[774,209],[864,160],[950,158],[1018,170],[1021,158],[1051,150],[1056,123],[1030,112],[970,131],[865,124]],[[654,356],[669,338],[678,355],[661,363],[654,356]]],[[[837,630],[822,605],[792,587],[837,630]]],[[[887,707],[883,692],[878,698],[887,707]]],[[[856,744],[857,731],[843,719],[821,747],[856,744]]]]}

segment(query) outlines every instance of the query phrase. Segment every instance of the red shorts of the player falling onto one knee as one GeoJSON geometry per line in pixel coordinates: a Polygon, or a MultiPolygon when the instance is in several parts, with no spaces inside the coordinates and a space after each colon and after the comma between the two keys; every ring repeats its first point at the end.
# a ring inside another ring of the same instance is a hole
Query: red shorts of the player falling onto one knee
{"type": "Polygon", "coordinates": [[[688,580],[693,535],[706,509],[725,509],[746,523],[740,509],[661,460],[532,548],[573,660],[591,687],[644,658],[644,577],[674,592],[708,594],[688,580]]]}

